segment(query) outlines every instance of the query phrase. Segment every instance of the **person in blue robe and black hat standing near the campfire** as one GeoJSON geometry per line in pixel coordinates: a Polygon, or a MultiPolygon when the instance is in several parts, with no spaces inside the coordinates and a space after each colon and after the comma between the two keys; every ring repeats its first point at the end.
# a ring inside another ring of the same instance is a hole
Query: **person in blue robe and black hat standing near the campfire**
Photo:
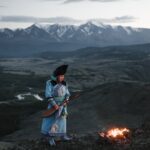
{"type": "Polygon", "coordinates": [[[45,97],[49,101],[48,109],[55,108],[57,111],[47,118],[43,118],[41,133],[49,137],[49,144],[56,145],[56,137],[62,140],[71,140],[66,135],[67,104],[60,106],[64,100],[69,100],[70,93],[64,74],[68,65],[56,68],[51,76],[51,80],[46,82],[45,97]]]}

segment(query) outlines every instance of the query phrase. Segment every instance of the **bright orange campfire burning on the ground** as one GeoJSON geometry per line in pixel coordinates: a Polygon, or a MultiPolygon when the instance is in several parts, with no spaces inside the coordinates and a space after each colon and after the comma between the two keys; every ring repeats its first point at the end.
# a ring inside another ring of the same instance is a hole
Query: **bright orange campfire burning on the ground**
{"type": "Polygon", "coordinates": [[[98,134],[101,138],[111,143],[126,143],[129,142],[130,138],[130,130],[127,128],[112,128],[98,134]]]}

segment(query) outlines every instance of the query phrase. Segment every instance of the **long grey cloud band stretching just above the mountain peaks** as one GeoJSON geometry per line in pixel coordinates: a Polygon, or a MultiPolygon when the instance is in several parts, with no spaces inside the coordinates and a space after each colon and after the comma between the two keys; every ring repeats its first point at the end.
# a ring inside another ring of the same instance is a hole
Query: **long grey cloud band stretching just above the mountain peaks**
{"type": "Polygon", "coordinates": [[[0,16],[0,22],[16,22],[16,23],[52,23],[52,24],[82,24],[87,21],[97,23],[130,23],[135,22],[138,18],[133,16],[120,16],[115,18],[97,18],[89,20],[77,20],[69,17],[51,17],[36,18],[32,16],[0,16]]]}

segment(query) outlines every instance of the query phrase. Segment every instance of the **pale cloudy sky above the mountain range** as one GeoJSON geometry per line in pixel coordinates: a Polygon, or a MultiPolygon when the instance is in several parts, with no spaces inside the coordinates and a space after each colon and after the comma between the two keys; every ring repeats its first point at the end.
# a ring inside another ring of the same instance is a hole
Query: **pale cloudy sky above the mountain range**
{"type": "Polygon", "coordinates": [[[0,0],[0,28],[86,21],[150,28],[150,0],[0,0]]]}

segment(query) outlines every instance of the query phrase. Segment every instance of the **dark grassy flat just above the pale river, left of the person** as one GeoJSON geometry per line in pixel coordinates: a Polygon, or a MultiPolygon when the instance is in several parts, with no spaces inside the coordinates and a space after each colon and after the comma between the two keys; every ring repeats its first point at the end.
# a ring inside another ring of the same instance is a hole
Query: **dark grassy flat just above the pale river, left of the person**
{"type": "Polygon", "coordinates": [[[10,73],[0,73],[0,101],[16,99],[15,96],[20,93],[29,92],[29,88],[33,88],[39,94],[45,88],[47,77],[30,75],[17,75],[10,73]]]}

